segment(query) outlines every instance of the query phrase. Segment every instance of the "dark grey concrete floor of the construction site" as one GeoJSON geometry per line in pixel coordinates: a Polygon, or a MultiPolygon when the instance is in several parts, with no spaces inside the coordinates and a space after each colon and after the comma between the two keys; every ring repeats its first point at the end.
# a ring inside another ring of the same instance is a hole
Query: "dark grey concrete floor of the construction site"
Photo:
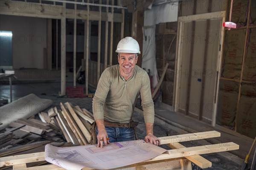
{"type": "MultiPolygon", "coordinates": [[[[67,86],[72,86],[72,82],[67,83],[67,86]]],[[[79,85],[79,84],[78,84],[79,85]]],[[[79,105],[82,108],[92,111],[91,102],[92,98],[67,98],[59,97],[58,92],[61,90],[60,83],[19,83],[13,84],[13,101],[34,93],[40,98],[51,99],[53,105],[59,106],[60,102],[71,102],[72,104],[79,105]]],[[[92,89],[93,90],[93,89],[92,89]]],[[[0,99],[9,99],[9,85],[0,86],[0,99]]],[[[181,113],[175,113],[170,111],[170,107],[162,106],[157,104],[159,107],[155,107],[156,117],[154,123],[154,134],[158,137],[166,136],[167,132],[169,135],[178,135],[194,132],[204,132],[209,130],[216,130],[215,128],[205,124],[201,121],[197,121],[193,118],[182,115],[181,113]],[[168,110],[169,109],[169,110],[168,110]]],[[[139,107],[139,106],[138,106],[139,107]]],[[[145,135],[145,124],[143,115],[139,112],[134,113],[134,121],[139,121],[137,131],[139,138],[144,138],[145,135]]],[[[220,130],[216,130],[221,132],[220,130]]],[[[245,140],[224,132],[221,132],[221,137],[216,138],[212,143],[218,141],[228,142],[233,141],[240,145],[240,149],[234,152],[222,152],[202,155],[209,161],[212,161],[212,167],[207,168],[209,170],[240,170],[241,164],[250,146],[251,140],[245,140]]],[[[209,141],[205,141],[209,144],[209,141]]],[[[185,146],[195,146],[195,142],[189,141],[183,143],[185,146]]],[[[252,151],[252,153],[254,153],[252,151]]],[[[252,155],[250,156],[252,159],[252,155]]],[[[194,167],[198,169],[198,167],[194,167]]]]}

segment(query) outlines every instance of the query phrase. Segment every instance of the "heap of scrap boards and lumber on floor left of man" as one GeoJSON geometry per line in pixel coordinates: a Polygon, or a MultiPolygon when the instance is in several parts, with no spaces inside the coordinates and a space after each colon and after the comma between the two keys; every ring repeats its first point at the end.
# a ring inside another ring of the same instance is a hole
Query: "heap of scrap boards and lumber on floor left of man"
{"type": "Polygon", "coordinates": [[[90,144],[93,114],[87,109],[60,103],[28,119],[20,118],[0,130],[0,157],[26,150],[44,151],[45,144],[77,146],[90,144]]]}

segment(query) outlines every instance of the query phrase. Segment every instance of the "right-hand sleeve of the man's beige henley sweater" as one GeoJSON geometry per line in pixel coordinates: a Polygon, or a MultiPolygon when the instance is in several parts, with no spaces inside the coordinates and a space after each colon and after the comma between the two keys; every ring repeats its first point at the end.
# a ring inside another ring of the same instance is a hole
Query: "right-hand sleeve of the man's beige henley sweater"
{"type": "Polygon", "coordinates": [[[143,81],[140,89],[143,114],[145,123],[154,123],[154,102],[151,96],[150,80],[147,72],[143,75],[143,81]]]}

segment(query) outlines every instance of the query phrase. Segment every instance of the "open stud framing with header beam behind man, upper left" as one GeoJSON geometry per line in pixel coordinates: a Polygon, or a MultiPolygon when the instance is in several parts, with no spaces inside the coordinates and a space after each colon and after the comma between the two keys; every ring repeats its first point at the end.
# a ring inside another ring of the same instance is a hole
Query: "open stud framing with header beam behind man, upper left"
{"type": "MultiPolygon", "coordinates": [[[[124,29],[124,9],[122,9],[122,14],[119,13],[114,13],[114,0],[111,0],[111,4],[113,5],[111,7],[111,13],[107,12],[102,12],[101,7],[99,8],[99,11],[90,11],[90,5],[87,4],[87,10],[77,10],[76,5],[75,5],[75,10],[74,9],[66,9],[66,3],[63,3],[63,5],[52,5],[52,4],[41,4],[41,7],[43,10],[38,9],[37,3],[32,3],[29,2],[29,5],[26,4],[26,6],[30,6],[31,8],[26,8],[26,9],[15,9],[10,5],[10,3],[15,4],[17,6],[20,1],[6,1],[5,4],[3,4],[0,14],[6,14],[6,15],[16,15],[16,16],[26,16],[26,17],[41,17],[41,18],[49,18],[49,19],[56,19],[56,22],[58,22],[58,19],[61,20],[61,92],[59,93],[60,95],[66,95],[66,19],[74,19],[74,23],[76,23],[77,19],[80,20],[87,20],[87,30],[85,34],[85,39],[86,43],[84,46],[84,52],[85,54],[85,93],[88,94],[88,61],[89,61],[89,21],[90,20],[98,20],[99,23],[101,21],[106,21],[106,22],[111,22],[111,31],[110,31],[110,48],[109,48],[109,65],[112,65],[112,53],[113,53],[113,23],[114,22],[119,22],[121,23],[121,37],[123,37],[123,29],[124,29]],[[36,8],[37,7],[37,8],[36,8]],[[54,8],[54,9],[53,9],[54,8]],[[86,50],[85,50],[86,49],[86,50]]],[[[27,3],[26,1],[24,3],[27,3]]],[[[87,0],[87,3],[90,3],[89,0],[87,0]]],[[[74,24],[74,28],[75,28],[74,24]]],[[[85,24],[84,24],[85,25],[85,24]]],[[[56,23],[57,29],[58,29],[58,23],[56,23]]],[[[106,24],[107,27],[107,24],[106,24]]],[[[108,31],[108,30],[106,30],[108,31]]],[[[75,35],[75,30],[74,30],[74,35],[75,35]]],[[[58,35],[58,33],[57,33],[58,35]]],[[[108,35],[108,34],[107,34],[108,35]]],[[[106,36],[107,36],[106,35],[106,36]]],[[[74,36],[74,48],[76,46],[75,42],[76,36],[74,36]]],[[[99,38],[100,39],[100,38],[99,38]]],[[[108,45],[108,43],[106,43],[108,45]]],[[[100,48],[99,48],[100,49],[100,48]]],[[[57,49],[58,50],[58,49],[57,49]]],[[[105,56],[108,57],[108,47],[105,48],[105,56]]],[[[75,53],[75,49],[74,49],[75,53]]],[[[99,52],[98,52],[99,53],[99,52]]],[[[58,52],[56,52],[56,55],[58,56],[58,52]]],[[[74,70],[76,69],[75,66],[75,61],[76,61],[76,56],[75,54],[73,55],[73,61],[74,61],[74,70]]],[[[98,56],[99,58],[99,56],[98,56]]],[[[106,58],[106,57],[105,57],[106,58]]],[[[98,60],[98,62],[100,62],[98,60]]],[[[107,66],[107,59],[104,61],[105,67],[107,66]]],[[[58,69],[58,59],[56,59],[56,69],[58,69]]],[[[93,70],[96,72],[96,70],[93,70]]],[[[99,63],[98,63],[98,68],[97,71],[99,71],[99,63]]],[[[99,75],[99,72],[97,72],[99,75]]],[[[97,79],[99,79],[99,76],[97,76],[97,79]]],[[[74,72],[74,86],[76,86],[76,72],[74,72]]]]}

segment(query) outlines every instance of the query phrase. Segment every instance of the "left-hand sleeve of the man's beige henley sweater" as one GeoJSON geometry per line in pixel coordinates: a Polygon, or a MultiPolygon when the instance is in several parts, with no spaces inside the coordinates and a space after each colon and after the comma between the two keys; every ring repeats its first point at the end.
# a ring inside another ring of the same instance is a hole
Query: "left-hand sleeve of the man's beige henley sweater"
{"type": "Polygon", "coordinates": [[[93,116],[95,120],[104,119],[104,104],[111,87],[111,69],[105,69],[99,78],[96,92],[93,96],[93,116]]]}

